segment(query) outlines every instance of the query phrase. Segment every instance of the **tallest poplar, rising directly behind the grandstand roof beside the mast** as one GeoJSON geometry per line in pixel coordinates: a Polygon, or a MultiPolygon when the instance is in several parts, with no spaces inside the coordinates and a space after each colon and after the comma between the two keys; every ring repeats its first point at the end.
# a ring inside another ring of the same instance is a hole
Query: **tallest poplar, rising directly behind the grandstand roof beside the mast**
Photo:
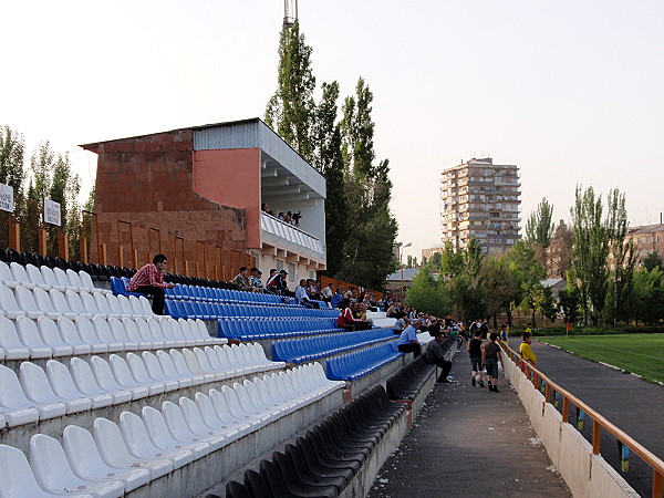
{"type": "Polygon", "coordinates": [[[266,107],[266,123],[310,163],[315,149],[315,77],[311,52],[299,23],[281,30],[277,91],[266,107]]]}

